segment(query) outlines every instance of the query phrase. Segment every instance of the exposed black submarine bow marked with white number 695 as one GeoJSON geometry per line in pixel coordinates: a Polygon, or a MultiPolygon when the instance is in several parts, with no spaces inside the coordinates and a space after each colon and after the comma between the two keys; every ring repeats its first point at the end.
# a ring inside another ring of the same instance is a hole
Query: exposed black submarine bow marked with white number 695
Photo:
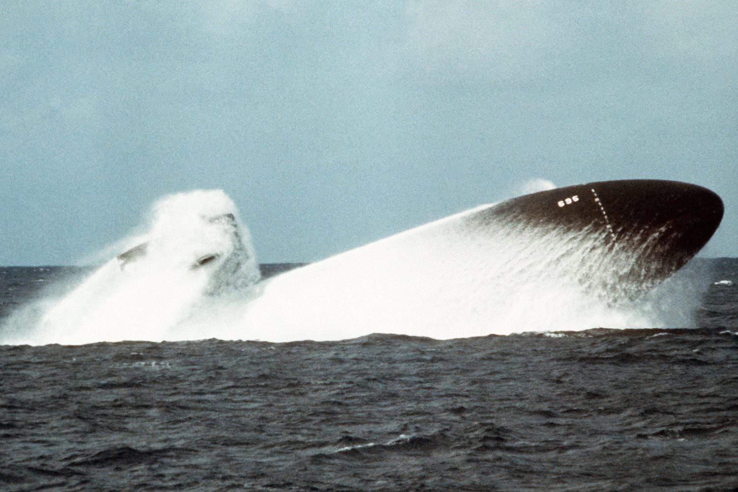
{"type": "Polygon", "coordinates": [[[597,260],[582,268],[582,280],[596,273],[633,297],[684,266],[705,246],[722,218],[723,201],[706,188],[638,179],[532,193],[467,220],[477,230],[504,224],[516,233],[577,243],[579,252],[588,248],[597,260]]]}

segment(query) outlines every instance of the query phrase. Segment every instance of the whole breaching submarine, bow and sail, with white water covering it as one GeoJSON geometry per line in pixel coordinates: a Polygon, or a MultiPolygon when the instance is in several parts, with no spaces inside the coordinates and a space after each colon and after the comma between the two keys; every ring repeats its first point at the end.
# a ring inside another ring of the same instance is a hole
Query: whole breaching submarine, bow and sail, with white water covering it
{"type": "Polygon", "coordinates": [[[578,184],[483,204],[275,276],[261,275],[221,190],[171,195],[152,215],[148,232],[46,312],[46,342],[655,327],[663,322],[653,304],[685,304],[669,294],[670,277],[714,234],[723,202],[677,181],[578,184]]]}

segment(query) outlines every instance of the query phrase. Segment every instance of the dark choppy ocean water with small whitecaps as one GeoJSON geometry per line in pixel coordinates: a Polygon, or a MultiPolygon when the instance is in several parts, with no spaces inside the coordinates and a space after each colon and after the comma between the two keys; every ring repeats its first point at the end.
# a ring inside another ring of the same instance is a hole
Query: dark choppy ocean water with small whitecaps
{"type": "MultiPolygon", "coordinates": [[[[692,327],[0,346],[0,488],[736,490],[738,260],[702,261],[692,327]]],[[[69,274],[0,268],[0,316],[69,274]]]]}

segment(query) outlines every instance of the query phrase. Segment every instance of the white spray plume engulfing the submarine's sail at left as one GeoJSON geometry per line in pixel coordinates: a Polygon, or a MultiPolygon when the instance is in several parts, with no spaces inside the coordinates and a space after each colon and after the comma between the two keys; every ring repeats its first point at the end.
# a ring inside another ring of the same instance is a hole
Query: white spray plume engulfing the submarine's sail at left
{"type": "Polygon", "coordinates": [[[168,196],[147,222],[145,234],[121,242],[128,252],[10,316],[1,342],[161,341],[211,297],[246,298],[259,280],[249,232],[222,191],[168,196]]]}

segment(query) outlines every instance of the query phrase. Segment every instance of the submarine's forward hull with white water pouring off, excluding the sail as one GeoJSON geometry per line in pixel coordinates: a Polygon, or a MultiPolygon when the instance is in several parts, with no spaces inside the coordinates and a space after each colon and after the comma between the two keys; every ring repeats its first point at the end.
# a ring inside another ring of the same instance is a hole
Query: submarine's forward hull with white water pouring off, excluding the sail
{"type": "Polygon", "coordinates": [[[258,284],[244,334],[272,342],[380,330],[451,339],[655,326],[632,303],[693,257],[722,215],[711,191],[658,180],[483,205],[258,284]]]}

